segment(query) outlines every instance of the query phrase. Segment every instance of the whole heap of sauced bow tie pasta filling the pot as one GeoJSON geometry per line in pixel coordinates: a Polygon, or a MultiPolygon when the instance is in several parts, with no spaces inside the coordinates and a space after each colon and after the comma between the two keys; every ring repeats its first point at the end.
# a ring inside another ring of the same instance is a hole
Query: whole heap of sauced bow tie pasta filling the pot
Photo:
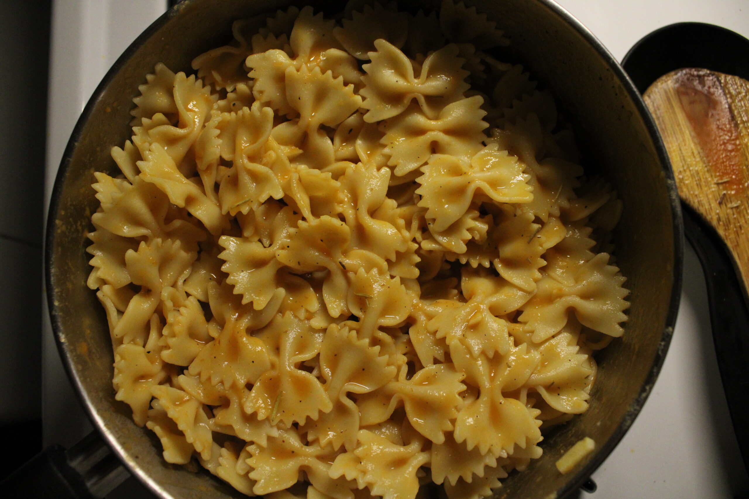
{"type": "Polygon", "coordinates": [[[484,498],[624,333],[622,203],[475,7],[339,19],[145,76],[93,185],[116,399],[246,495],[484,498]]]}

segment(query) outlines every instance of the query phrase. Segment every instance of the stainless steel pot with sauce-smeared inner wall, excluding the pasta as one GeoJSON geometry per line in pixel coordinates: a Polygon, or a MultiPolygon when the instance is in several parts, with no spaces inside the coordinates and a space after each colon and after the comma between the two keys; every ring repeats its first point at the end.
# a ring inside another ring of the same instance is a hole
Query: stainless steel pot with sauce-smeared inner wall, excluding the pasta
{"type": "MultiPolygon", "coordinates": [[[[154,64],[190,71],[190,61],[230,36],[231,22],[296,3],[328,13],[338,1],[185,0],[154,22],[118,59],[76,125],[55,183],[46,239],[49,313],[67,373],[94,425],[132,474],[161,498],[243,497],[207,472],[163,461],[157,439],[133,423],[112,390],[112,345],[106,317],[85,286],[85,252],[97,207],[94,171],[115,171],[109,149],[130,137],[129,111],[154,64]]],[[[439,1],[403,1],[426,11],[439,1]]],[[[682,267],[679,198],[658,132],[640,95],[616,60],[587,29],[551,0],[476,0],[480,12],[506,30],[503,60],[519,62],[551,89],[573,123],[583,166],[613,183],[624,203],[616,227],[616,261],[627,276],[631,309],[626,334],[598,356],[590,408],[548,434],[544,456],[508,477],[497,498],[562,498],[574,492],[625,434],[651,391],[676,320],[682,267]],[[574,442],[597,444],[568,475],[554,462],[574,442]]]]}

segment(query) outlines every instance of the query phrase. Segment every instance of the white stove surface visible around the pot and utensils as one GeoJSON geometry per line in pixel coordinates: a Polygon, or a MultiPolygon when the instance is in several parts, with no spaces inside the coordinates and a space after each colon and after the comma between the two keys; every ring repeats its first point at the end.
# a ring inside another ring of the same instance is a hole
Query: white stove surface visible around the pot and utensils
{"type": "MultiPolygon", "coordinates": [[[[746,0],[559,0],[621,61],[650,31],[710,22],[749,37],[746,0]]],[[[166,10],[166,0],[57,0],[53,6],[46,203],[70,132],[122,51],[166,10]]],[[[45,210],[46,211],[46,210],[45,210]]],[[[46,304],[45,304],[46,306],[46,304]]],[[[73,394],[44,314],[44,444],[69,447],[91,426],[73,394]]],[[[721,387],[700,263],[688,248],[679,319],[658,382],[640,415],[580,498],[734,498],[749,495],[721,387]]],[[[133,491],[134,492],[134,491],[133,491]]],[[[136,493],[130,493],[136,498],[136,493]]]]}

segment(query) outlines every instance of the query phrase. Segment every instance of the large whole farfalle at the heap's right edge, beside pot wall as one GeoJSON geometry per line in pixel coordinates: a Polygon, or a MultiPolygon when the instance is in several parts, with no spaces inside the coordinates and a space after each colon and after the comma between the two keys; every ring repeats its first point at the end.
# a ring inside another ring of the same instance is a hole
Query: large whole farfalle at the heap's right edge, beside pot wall
{"type": "Polygon", "coordinates": [[[567,323],[567,310],[574,309],[575,316],[587,327],[619,337],[624,333],[620,322],[629,307],[625,297],[629,294],[622,285],[626,278],[619,269],[608,265],[609,256],[595,255],[569,277],[574,284],[564,285],[551,277],[539,281],[538,291],[523,307],[518,318],[533,331],[533,341],[540,343],[553,336],[567,323]]]}

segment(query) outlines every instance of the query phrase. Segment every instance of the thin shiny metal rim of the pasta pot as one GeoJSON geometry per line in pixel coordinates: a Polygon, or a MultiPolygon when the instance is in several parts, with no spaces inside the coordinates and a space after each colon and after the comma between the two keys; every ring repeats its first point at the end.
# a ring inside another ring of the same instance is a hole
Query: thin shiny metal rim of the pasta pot
{"type": "MultiPolygon", "coordinates": [[[[166,23],[171,21],[173,17],[178,16],[181,10],[184,9],[185,5],[191,4],[193,1],[196,0],[182,0],[180,3],[175,4],[173,7],[169,8],[169,10],[166,10],[165,13],[163,13],[161,16],[159,16],[158,19],[151,23],[151,25],[149,25],[148,28],[145,29],[145,31],[143,31],[135,40],[133,40],[133,43],[130,43],[130,46],[128,46],[127,49],[125,49],[125,51],[117,59],[117,61],[115,61],[115,64],[112,64],[112,67],[109,68],[99,85],[97,85],[94,93],[91,94],[91,98],[86,103],[79,119],[76,122],[76,126],[73,128],[73,132],[70,135],[70,140],[67,142],[67,146],[65,147],[60,166],[55,177],[55,185],[52,189],[52,197],[50,199],[49,210],[47,212],[46,234],[44,241],[44,277],[49,319],[52,324],[52,331],[55,335],[55,343],[57,344],[58,353],[60,354],[62,364],[64,365],[64,369],[67,373],[67,377],[71,382],[73,382],[73,386],[76,388],[76,394],[82,402],[89,419],[92,423],[94,423],[94,428],[98,432],[100,432],[100,435],[103,436],[104,440],[107,442],[107,444],[109,444],[109,447],[112,447],[112,449],[115,450],[119,459],[127,467],[128,471],[130,471],[133,476],[137,477],[138,480],[141,481],[141,483],[145,484],[145,486],[147,486],[148,489],[151,490],[151,492],[161,498],[171,498],[172,496],[169,494],[169,492],[163,489],[159,482],[153,480],[149,474],[142,471],[142,468],[130,456],[130,453],[128,453],[121,442],[118,441],[118,439],[115,438],[112,432],[110,432],[109,429],[106,428],[103,418],[100,417],[100,415],[97,414],[97,411],[94,411],[94,409],[92,408],[93,404],[91,403],[88,392],[85,391],[85,388],[79,377],[79,373],[72,365],[72,361],[68,353],[70,346],[68,345],[67,341],[65,341],[61,337],[60,316],[58,313],[58,307],[56,305],[57,293],[55,287],[55,279],[52,275],[52,248],[55,247],[55,222],[57,220],[58,209],[61,201],[62,186],[67,176],[67,170],[70,166],[70,162],[72,162],[76,146],[80,141],[83,130],[85,129],[85,124],[88,122],[88,118],[91,117],[91,114],[94,111],[97,102],[99,102],[99,100],[102,98],[104,92],[106,91],[106,88],[115,78],[115,75],[117,75],[122,67],[127,64],[130,58],[137,52],[138,49],[140,49],[145,41],[151,38],[151,36],[153,36],[155,33],[157,33],[157,31],[159,31],[160,28],[163,27],[163,25],[166,25],[166,23]]],[[[559,16],[568,25],[571,25],[571,27],[574,28],[583,37],[583,39],[586,40],[586,42],[589,43],[589,45],[592,46],[593,49],[595,49],[596,52],[598,52],[598,55],[603,58],[604,62],[610,68],[612,73],[618,77],[620,82],[622,82],[622,85],[625,87],[628,96],[634,101],[634,105],[637,107],[638,111],[640,111],[640,115],[645,122],[646,129],[648,130],[650,138],[655,145],[655,150],[658,153],[658,159],[663,166],[663,174],[665,177],[666,188],[669,195],[671,218],[673,224],[673,284],[671,287],[671,296],[668,305],[668,313],[666,316],[666,324],[663,333],[661,334],[661,340],[658,343],[658,350],[656,352],[650,372],[646,377],[642,388],[640,388],[639,394],[637,394],[634,402],[631,403],[630,408],[625,413],[625,416],[622,419],[622,422],[619,424],[610,438],[608,438],[608,440],[604,442],[601,447],[596,447],[591,459],[589,459],[589,461],[586,462],[585,465],[575,471],[574,478],[572,480],[569,480],[566,486],[562,487],[562,489],[557,490],[557,498],[562,499],[568,497],[568,495],[570,495],[574,491],[577,491],[577,489],[580,489],[580,486],[582,486],[583,483],[588,480],[590,475],[604,462],[611,451],[613,451],[616,445],[619,444],[619,441],[621,441],[628,429],[632,426],[632,423],[634,423],[637,414],[640,413],[640,410],[643,408],[646,399],[652,392],[653,385],[655,385],[655,381],[656,379],[658,379],[658,373],[660,373],[661,371],[661,367],[663,366],[666,353],[671,342],[671,338],[673,337],[673,327],[676,324],[676,316],[679,311],[679,301],[681,299],[682,290],[682,266],[684,259],[685,242],[682,209],[681,203],[679,201],[679,192],[676,190],[676,183],[673,178],[673,170],[671,168],[665,146],[663,144],[663,141],[661,140],[661,135],[658,132],[657,126],[655,126],[655,121],[652,119],[652,116],[647,106],[645,105],[645,102],[643,101],[643,98],[640,95],[639,91],[637,91],[637,88],[635,88],[634,83],[631,81],[628,74],[625,73],[625,70],[622,68],[621,64],[616,61],[616,58],[614,58],[613,55],[608,51],[608,49],[606,49],[603,43],[601,43],[601,41],[598,40],[598,38],[595,37],[595,35],[592,34],[592,32],[588,28],[586,28],[586,26],[583,25],[582,22],[580,22],[576,17],[572,16],[571,13],[565,10],[565,8],[560,4],[557,4],[557,2],[554,0],[536,1],[559,16]]]]}

